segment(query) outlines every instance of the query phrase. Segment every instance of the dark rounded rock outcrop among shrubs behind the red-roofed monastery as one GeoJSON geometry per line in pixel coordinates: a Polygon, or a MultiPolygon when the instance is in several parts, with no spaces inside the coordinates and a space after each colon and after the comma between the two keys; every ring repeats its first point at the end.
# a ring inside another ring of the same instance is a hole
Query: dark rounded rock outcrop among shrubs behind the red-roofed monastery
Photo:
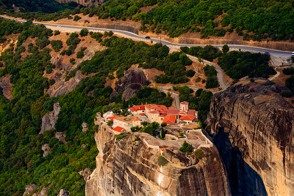
{"type": "Polygon", "coordinates": [[[110,96],[116,96],[117,93],[121,93],[121,98],[127,100],[132,98],[145,85],[147,83],[144,72],[139,68],[133,68],[118,80],[116,89],[110,96]]]}

